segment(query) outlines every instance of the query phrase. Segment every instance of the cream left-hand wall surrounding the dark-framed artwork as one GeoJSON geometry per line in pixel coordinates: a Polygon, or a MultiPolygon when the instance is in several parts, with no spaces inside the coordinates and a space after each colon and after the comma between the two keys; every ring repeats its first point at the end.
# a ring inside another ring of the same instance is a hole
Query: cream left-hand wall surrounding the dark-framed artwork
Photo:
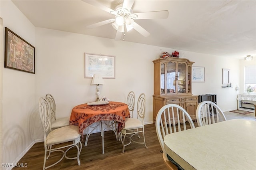
{"type": "MultiPolygon", "coordinates": [[[[24,40],[35,44],[35,27],[14,6],[10,0],[0,1],[3,26],[9,28],[24,40]]],[[[1,49],[4,38],[1,37],[1,49]]],[[[1,52],[1,163],[16,163],[32,146],[33,113],[37,105],[35,100],[35,76],[31,73],[4,67],[4,53],[1,52]]],[[[2,164],[1,164],[2,168],[2,164]]],[[[6,169],[6,168],[3,168],[6,169]]],[[[10,167],[8,168],[10,169],[10,167]]]]}

